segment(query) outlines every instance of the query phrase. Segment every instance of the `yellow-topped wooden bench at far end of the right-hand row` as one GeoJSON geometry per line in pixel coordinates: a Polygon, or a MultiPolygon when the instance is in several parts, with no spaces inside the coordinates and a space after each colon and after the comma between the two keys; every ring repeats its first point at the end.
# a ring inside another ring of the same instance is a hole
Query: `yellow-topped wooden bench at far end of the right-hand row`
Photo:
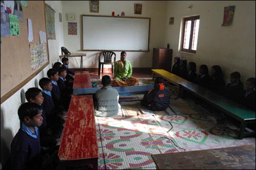
{"type": "Polygon", "coordinates": [[[193,84],[192,82],[189,82],[175,74],[172,74],[172,72],[166,71],[164,69],[152,69],[153,71],[153,79],[156,76],[161,76],[165,80],[169,81],[170,83],[173,83],[177,86],[178,94],[180,94],[180,86],[182,84],[193,84]]]}

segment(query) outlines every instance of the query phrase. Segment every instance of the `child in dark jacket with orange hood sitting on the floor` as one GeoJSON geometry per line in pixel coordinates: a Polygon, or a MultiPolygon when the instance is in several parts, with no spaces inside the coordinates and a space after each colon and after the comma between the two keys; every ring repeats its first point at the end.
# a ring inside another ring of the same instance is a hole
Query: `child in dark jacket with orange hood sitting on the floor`
{"type": "Polygon", "coordinates": [[[164,88],[164,80],[157,77],[154,88],[144,95],[141,105],[153,111],[162,111],[169,106],[169,93],[164,88]]]}

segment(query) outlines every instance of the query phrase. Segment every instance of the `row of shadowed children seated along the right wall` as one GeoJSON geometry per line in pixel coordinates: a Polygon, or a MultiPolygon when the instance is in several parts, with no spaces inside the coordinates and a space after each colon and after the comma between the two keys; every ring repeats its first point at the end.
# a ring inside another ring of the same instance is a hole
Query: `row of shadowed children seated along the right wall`
{"type": "Polygon", "coordinates": [[[223,72],[219,65],[211,67],[211,77],[207,65],[200,65],[199,75],[197,75],[196,68],[195,62],[189,62],[187,65],[185,59],[175,57],[172,73],[255,110],[255,78],[247,79],[244,89],[238,71],[230,74],[230,83],[225,85],[223,72]]]}

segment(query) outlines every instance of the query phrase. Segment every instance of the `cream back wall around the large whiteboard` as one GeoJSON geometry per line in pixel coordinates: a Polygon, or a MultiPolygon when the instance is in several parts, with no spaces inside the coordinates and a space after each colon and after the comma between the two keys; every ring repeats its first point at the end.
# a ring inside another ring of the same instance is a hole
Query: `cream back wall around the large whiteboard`
{"type": "MultiPolygon", "coordinates": [[[[115,16],[125,12],[125,16],[150,17],[150,52],[127,52],[127,60],[130,60],[133,67],[152,67],[152,56],[154,47],[164,47],[165,36],[165,15],[167,1],[99,1],[99,13],[90,12],[89,1],[63,1],[63,33],[64,44],[69,51],[81,50],[81,15],[112,15],[115,16]],[[142,4],[142,14],[134,14],[134,4],[142,4]],[[73,12],[76,14],[77,35],[68,35],[68,21],[66,14],[73,12]],[[65,16],[65,17],[64,17],[65,16]]],[[[104,26],[102,26],[104,27],[104,26]]],[[[120,30],[121,31],[121,30],[120,30]]],[[[110,40],[111,41],[111,40],[110,40]]],[[[119,42],[125,41],[120,39],[119,42]]],[[[87,57],[83,59],[84,68],[98,68],[98,55],[100,52],[86,52],[87,57]]],[[[121,52],[115,52],[117,59],[120,59],[121,52]]],[[[80,58],[69,59],[70,68],[80,67],[80,58]]],[[[104,67],[111,67],[106,65],[104,67]]]]}

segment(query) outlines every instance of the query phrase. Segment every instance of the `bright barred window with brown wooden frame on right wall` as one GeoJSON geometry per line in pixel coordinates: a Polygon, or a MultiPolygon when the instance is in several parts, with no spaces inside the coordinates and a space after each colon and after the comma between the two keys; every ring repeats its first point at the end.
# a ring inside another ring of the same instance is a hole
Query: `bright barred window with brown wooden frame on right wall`
{"type": "Polygon", "coordinates": [[[199,31],[199,16],[184,18],[181,51],[196,54],[199,31]]]}

